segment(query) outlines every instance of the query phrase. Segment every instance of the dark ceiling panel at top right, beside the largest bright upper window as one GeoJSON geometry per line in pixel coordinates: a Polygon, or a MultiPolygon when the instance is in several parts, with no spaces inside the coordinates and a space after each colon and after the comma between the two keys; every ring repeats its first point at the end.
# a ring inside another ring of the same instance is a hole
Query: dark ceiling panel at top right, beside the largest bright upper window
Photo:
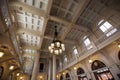
{"type": "Polygon", "coordinates": [[[79,16],[76,24],[83,25],[88,28],[92,27],[101,18],[101,14],[105,12],[108,0],[92,0],[83,13],[79,16]]]}

